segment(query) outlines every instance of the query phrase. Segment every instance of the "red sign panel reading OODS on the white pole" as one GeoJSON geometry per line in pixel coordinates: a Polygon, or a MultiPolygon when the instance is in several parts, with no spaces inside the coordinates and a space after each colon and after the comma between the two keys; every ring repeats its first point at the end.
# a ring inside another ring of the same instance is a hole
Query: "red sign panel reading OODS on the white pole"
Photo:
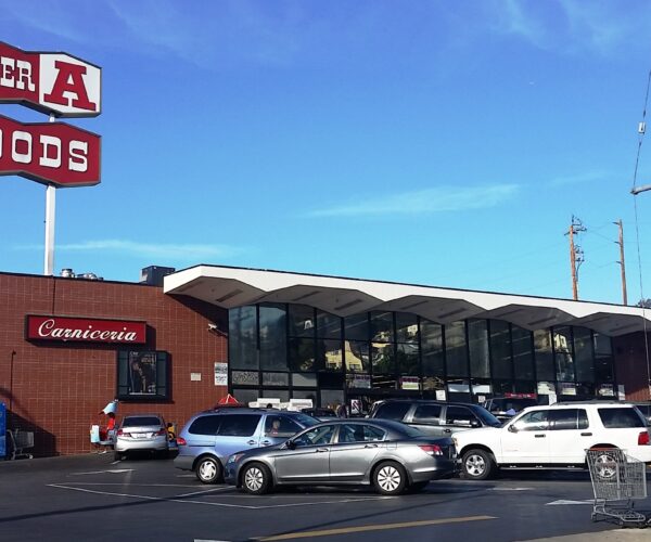
{"type": "Polygon", "coordinates": [[[100,182],[100,136],[65,122],[22,124],[0,115],[0,175],[44,184],[100,182]]]}

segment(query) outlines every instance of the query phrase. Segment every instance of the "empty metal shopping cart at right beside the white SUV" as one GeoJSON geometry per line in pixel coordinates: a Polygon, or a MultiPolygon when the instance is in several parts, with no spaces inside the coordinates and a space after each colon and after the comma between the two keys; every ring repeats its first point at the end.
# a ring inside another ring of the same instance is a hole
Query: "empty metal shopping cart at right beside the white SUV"
{"type": "Polygon", "coordinates": [[[644,527],[647,517],[634,509],[636,499],[647,498],[647,465],[624,450],[586,451],[595,504],[592,521],[615,519],[620,526],[644,527]]]}

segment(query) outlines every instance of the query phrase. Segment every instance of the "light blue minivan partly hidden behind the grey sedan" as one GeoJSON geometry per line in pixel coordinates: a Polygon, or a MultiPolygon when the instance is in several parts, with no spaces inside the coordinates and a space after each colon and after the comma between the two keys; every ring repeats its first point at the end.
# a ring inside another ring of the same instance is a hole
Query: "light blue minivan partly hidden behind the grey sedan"
{"type": "Polygon", "coordinates": [[[299,430],[318,424],[302,412],[224,408],[200,412],[177,437],[179,454],[174,466],[194,470],[204,483],[222,477],[229,455],[241,450],[278,444],[299,430]]]}

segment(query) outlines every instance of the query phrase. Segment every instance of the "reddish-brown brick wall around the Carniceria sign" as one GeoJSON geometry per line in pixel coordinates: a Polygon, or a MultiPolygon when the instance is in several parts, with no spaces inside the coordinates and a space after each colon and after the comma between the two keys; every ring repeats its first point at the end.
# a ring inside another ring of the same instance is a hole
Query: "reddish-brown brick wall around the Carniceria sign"
{"type": "Polygon", "coordinates": [[[0,273],[0,401],[11,406],[10,425],[35,431],[35,455],[91,449],[89,427],[116,393],[120,347],[27,341],[30,313],[146,322],[146,349],[170,353],[170,400],[122,401],[118,417],[157,412],[181,426],[227,392],[213,376],[214,363],[228,357],[225,310],[155,286],[0,273]],[[220,333],[208,332],[208,323],[220,333]],[[201,382],[190,373],[201,373],[201,382]]]}

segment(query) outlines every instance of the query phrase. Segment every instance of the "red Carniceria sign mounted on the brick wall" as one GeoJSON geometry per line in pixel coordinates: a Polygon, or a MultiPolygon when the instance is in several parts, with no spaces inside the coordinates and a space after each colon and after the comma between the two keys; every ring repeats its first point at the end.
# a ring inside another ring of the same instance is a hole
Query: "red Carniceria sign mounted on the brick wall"
{"type": "Polygon", "coordinates": [[[126,320],[27,315],[25,335],[31,340],[143,345],[146,324],[126,320]]]}

